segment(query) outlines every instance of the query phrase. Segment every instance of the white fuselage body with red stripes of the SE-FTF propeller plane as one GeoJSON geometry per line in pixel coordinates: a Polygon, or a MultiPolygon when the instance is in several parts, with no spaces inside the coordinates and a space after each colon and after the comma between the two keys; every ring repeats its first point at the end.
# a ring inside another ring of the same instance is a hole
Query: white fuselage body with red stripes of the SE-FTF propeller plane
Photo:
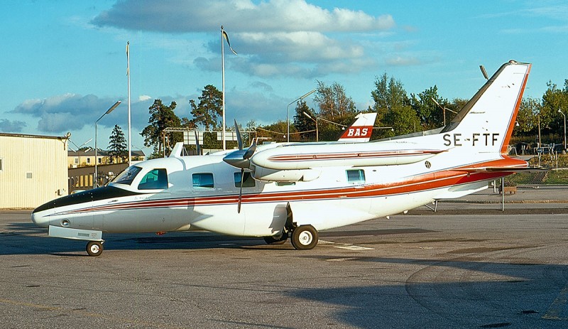
{"type": "MultiPolygon", "coordinates": [[[[429,139],[436,138],[441,139],[441,136],[429,139]]],[[[425,137],[421,139],[424,141],[425,137]]],[[[443,140],[436,144],[441,146],[442,143],[443,140]]],[[[395,144],[414,146],[415,150],[417,146],[408,141],[368,144],[384,151],[395,144]]],[[[360,145],[364,144],[350,144],[351,149],[361,148],[360,145]]],[[[486,180],[503,176],[503,173],[469,174],[452,169],[452,163],[463,165],[463,161],[456,158],[457,151],[430,156],[430,168],[420,157],[415,163],[393,166],[354,167],[333,163],[333,166],[312,169],[318,174],[310,181],[249,180],[254,186],[245,184],[242,188],[240,213],[237,203],[241,172],[223,161],[225,153],[154,159],[136,164],[141,170],[130,184],[110,183],[98,190],[69,195],[65,198],[75,199],[75,202],[70,200],[68,205],[55,200],[54,207],[35,210],[33,221],[43,227],[53,225],[103,232],[208,230],[261,237],[283,230],[286,206],[290,204],[297,225],[309,223],[317,230],[327,230],[393,215],[439,198],[460,197],[486,188],[486,180]],[[167,188],[141,189],[141,181],[155,169],[167,171],[167,188]],[[195,176],[209,175],[212,185],[201,186],[193,181],[195,176]],[[87,197],[89,193],[94,195],[87,197]]],[[[475,158],[479,161],[479,156],[475,158]]]]}

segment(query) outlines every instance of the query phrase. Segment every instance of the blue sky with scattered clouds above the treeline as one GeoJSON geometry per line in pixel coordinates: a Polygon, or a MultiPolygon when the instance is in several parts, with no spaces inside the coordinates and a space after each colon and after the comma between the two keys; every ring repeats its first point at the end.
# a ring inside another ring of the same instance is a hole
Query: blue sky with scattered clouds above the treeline
{"type": "Polygon", "coordinates": [[[469,99],[485,81],[479,65],[492,75],[508,60],[532,63],[525,97],[568,79],[567,1],[4,0],[0,132],[70,132],[94,147],[94,123],[121,100],[97,146],[115,124],[128,136],[129,42],[132,149],[151,153],[140,132],[154,99],[191,118],[204,86],[222,90],[221,26],[238,53],[225,45],[228,125],[285,120],[318,81],[364,110],[383,73],[409,95],[436,85],[447,99],[469,99]]]}

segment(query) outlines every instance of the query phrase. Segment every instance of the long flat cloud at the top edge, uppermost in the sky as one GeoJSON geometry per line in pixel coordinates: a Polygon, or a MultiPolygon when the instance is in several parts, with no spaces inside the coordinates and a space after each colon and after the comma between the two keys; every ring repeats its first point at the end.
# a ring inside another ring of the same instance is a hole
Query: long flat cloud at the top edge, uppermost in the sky
{"type": "Polygon", "coordinates": [[[333,9],[307,4],[305,0],[271,0],[254,4],[249,0],[118,1],[96,16],[97,26],[137,31],[209,32],[223,22],[227,31],[382,31],[395,26],[391,15],[371,16],[363,11],[333,9]]]}

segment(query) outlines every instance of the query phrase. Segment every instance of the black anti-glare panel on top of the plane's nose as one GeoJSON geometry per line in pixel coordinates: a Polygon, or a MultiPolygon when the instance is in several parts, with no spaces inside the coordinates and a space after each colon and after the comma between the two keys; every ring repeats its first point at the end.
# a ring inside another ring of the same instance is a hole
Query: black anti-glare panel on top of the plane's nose
{"type": "Polygon", "coordinates": [[[65,205],[78,205],[80,203],[89,203],[92,201],[120,198],[138,194],[141,193],[131,192],[129,190],[123,190],[121,188],[115,188],[114,186],[103,186],[102,188],[94,188],[92,190],[86,190],[84,192],[70,194],[62,198],[51,200],[50,202],[35,208],[33,212],[54,209],[57,207],[63,207],[65,205]]]}

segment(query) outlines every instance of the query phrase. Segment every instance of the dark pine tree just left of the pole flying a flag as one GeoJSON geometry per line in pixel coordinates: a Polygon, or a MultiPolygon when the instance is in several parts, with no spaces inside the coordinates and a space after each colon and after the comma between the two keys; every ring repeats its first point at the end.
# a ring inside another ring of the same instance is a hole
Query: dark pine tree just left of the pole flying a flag
{"type": "Polygon", "coordinates": [[[206,85],[201,92],[201,96],[197,97],[200,102],[195,104],[190,99],[191,114],[193,119],[190,122],[201,124],[205,130],[215,129],[222,126],[219,117],[223,112],[223,94],[213,85],[206,85]]]}

